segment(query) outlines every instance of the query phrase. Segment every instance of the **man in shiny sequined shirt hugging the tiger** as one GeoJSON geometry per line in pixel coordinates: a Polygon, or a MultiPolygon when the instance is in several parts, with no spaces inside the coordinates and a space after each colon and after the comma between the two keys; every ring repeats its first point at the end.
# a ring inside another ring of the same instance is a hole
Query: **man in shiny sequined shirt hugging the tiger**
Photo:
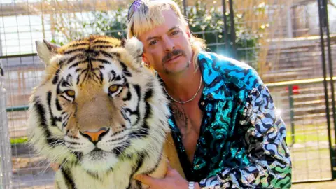
{"type": "Polygon", "coordinates": [[[205,52],[172,0],[135,1],[128,37],[144,43],[144,64],[171,99],[174,144],[186,179],[136,179],[154,188],[290,188],[286,127],[250,66],[205,52]]]}

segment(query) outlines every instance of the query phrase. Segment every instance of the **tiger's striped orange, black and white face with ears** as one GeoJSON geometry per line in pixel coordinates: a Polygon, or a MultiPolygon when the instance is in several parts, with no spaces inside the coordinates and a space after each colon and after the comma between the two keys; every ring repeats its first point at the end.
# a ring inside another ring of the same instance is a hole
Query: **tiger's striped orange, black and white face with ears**
{"type": "Polygon", "coordinates": [[[29,113],[38,151],[55,162],[98,172],[148,151],[153,138],[163,143],[167,99],[153,73],[142,66],[137,39],[122,45],[114,38],[90,36],[62,48],[45,41],[36,47],[46,64],[29,113]]]}

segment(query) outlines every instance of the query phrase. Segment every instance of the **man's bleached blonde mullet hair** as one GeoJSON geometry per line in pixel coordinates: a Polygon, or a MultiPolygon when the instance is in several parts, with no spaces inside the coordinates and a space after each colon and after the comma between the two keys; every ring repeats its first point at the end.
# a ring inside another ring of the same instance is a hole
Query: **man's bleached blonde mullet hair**
{"type": "MultiPolygon", "coordinates": [[[[127,25],[128,38],[141,36],[141,34],[144,34],[146,31],[165,23],[165,18],[162,15],[163,10],[173,10],[183,25],[188,26],[188,22],[181,13],[179,6],[172,0],[142,0],[135,10],[132,10],[133,8],[132,5],[129,10],[130,18],[127,25]]],[[[196,71],[198,69],[197,57],[200,51],[206,48],[206,45],[202,38],[197,38],[193,36],[193,34],[190,34],[190,43],[194,53],[193,62],[196,71]]]]}

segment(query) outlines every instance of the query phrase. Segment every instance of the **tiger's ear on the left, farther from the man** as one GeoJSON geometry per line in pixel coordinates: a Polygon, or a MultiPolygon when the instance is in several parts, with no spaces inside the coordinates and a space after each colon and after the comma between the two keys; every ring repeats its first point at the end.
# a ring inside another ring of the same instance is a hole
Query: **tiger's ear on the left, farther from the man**
{"type": "Polygon", "coordinates": [[[40,57],[40,59],[44,62],[45,66],[48,66],[50,64],[51,57],[56,55],[59,47],[45,41],[45,39],[43,41],[36,41],[35,43],[38,57],[40,57]]]}

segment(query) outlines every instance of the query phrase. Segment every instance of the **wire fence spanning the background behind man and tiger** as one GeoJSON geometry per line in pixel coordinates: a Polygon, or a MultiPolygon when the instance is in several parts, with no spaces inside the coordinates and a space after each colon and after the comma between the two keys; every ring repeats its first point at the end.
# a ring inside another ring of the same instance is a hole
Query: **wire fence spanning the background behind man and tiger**
{"type": "MultiPolygon", "coordinates": [[[[207,40],[209,50],[250,64],[269,85],[278,113],[286,122],[293,181],[332,179],[330,146],[335,144],[335,136],[332,117],[328,130],[321,80],[317,1],[177,2],[186,13],[190,30],[207,40]]],[[[29,95],[44,74],[44,65],[35,54],[35,41],[45,38],[62,45],[89,34],[125,37],[127,8],[132,1],[0,0],[0,3],[0,61],[6,78],[13,188],[52,188],[54,172],[48,162],[25,145],[29,95]]],[[[331,50],[335,57],[333,3],[329,1],[328,8],[331,50]]]]}

